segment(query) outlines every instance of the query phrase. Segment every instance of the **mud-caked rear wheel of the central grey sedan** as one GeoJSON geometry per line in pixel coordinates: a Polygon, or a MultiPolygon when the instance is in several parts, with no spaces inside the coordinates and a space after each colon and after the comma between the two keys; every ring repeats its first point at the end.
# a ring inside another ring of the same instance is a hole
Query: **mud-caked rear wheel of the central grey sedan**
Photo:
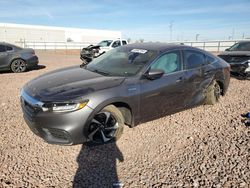
{"type": "Polygon", "coordinates": [[[221,95],[220,85],[218,84],[218,82],[214,80],[212,81],[210,86],[207,88],[205,104],[208,104],[208,105],[216,104],[220,99],[220,95],[221,95]]]}

